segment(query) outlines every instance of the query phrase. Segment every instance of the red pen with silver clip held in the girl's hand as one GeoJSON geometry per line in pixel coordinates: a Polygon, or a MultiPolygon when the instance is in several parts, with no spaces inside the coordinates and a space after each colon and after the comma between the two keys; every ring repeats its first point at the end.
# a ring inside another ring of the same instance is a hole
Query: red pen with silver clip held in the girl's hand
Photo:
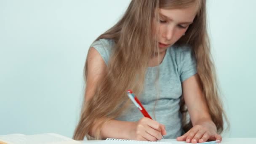
{"type": "MultiPolygon", "coordinates": [[[[148,117],[151,120],[153,120],[152,117],[150,117],[149,113],[146,111],[146,109],[143,107],[143,105],[141,104],[139,99],[133,94],[133,91],[128,90],[127,95],[131,99],[133,104],[135,104],[135,106],[138,107],[138,109],[141,111],[141,113],[144,115],[144,117],[148,117]]],[[[162,138],[164,139],[163,135],[162,135],[162,138]]]]}

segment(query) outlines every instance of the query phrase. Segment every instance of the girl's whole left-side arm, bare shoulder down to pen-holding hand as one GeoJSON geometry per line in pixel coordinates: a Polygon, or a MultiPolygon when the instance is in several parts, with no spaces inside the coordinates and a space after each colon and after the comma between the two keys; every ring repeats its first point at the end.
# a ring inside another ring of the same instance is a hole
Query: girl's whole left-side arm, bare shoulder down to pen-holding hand
{"type": "MultiPolygon", "coordinates": [[[[89,101],[96,91],[97,83],[107,74],[107,65],[95,48],[90,48],[87,55],[87,81],[85,89],[85,101],[89,101]]],[[[97,123],[96,123],[97,124],[97,123]]],[[[89,132],[94,136],[96,124],[89,132]]],[[[137,122],[125,122],[110,120],[101,128],[102,138],[133,139],[144,141],[157,141],[166,134],[165,128],[160,123],[149,118],[141,118],[137,122]]]]}

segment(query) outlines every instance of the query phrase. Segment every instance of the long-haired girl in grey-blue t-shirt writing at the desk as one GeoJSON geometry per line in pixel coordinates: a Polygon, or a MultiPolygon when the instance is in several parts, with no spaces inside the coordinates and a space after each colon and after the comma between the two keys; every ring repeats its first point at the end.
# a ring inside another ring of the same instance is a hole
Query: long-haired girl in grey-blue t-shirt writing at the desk
{"type": "Polygon", "coordinates": [[[205,17],[205,0],[132,0],[88,51],[74,139],[221,141],[224,111],[205,17]],[[154,120],[131,103],[128,89],[154,120]]]}

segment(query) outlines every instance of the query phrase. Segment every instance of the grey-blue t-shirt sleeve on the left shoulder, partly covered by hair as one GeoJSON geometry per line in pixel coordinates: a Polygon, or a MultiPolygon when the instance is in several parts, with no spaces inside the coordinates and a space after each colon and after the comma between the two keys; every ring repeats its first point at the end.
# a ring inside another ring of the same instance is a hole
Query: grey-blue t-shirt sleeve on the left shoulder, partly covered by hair
{"type": "Polygon", "coordinates": [[[112,42],[107,39],[96,40],[91,44],[91,47],[95,48],[99,52],[102,59],[107,64],[111,53],[112,42]]]}

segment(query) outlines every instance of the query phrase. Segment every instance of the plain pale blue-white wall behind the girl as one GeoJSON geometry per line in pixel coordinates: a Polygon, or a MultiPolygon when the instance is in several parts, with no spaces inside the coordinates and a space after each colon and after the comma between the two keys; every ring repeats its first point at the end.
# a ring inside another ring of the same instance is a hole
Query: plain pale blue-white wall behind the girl
{"type": "MultiPolygon", "coordinates": [[[[130,0],[0,0],[0,135],[72,137],[88,47],[130,0]]],[[[229,121],[256,137],[254,0],[209,0],[213,57],[229,121]]]]}

